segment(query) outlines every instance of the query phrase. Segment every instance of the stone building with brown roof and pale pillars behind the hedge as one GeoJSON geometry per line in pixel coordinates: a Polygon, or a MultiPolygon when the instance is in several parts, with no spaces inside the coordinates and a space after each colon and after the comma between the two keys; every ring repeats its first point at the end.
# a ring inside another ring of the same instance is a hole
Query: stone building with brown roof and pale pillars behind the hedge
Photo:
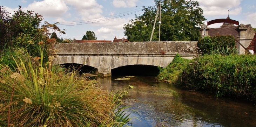
{"type": "MultiPolygon", "coordinates": [[[[227,19],[230,20],[230,17],[228,16],[227,19]]],[[[218,19],[218,20],[221,21],[223,19],[218,19]]],[[[235,39],[238,42],[240,42],[247,50],[254,50],[253,52],[255,52],[256,42],[253,39],[255,39],[256,33],[251,27],[251,24],[247,24],[247,25],[240,24],[238,26],[235,26],[233,23],[224,22],[220,28],[209,28],[207,25],[204,25],[200,29],[200,33],[202,35],[201,36],[202,38],[204,36],[219,36],[219,35],[234,36],[235,39]],[[205,32],[204,32],[204,29],[205,29],[205,32]]],[[[239,54],[244,54],[245,49],[239,43],[236,43],[236,45],[238,47],[239,54]]]]}

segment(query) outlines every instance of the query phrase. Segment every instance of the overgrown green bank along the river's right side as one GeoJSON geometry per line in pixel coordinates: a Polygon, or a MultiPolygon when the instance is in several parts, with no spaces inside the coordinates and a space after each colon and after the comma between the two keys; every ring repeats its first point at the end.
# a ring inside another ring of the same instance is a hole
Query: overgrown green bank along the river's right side
{"type": "Polygon", "coordinates": [[[204,55],[186,60],[178,55],[158,76],[189,90],[247,98],[256,102],[255,55],[204,55]]]}

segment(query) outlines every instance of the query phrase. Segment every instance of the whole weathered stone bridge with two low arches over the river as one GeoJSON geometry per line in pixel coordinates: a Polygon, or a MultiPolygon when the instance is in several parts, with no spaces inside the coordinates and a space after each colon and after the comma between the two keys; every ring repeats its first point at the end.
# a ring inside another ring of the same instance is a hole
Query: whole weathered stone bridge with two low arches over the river
{"type": "Polygon", "coordinates": [[[197,42],[94,42],[60,43],[55,45],[58,57],[54,64],[84,64],[98,69],[102,76],[111,76],[111,69],[126,65],[166,67],[177,53],[192,59],[197,42]]]}

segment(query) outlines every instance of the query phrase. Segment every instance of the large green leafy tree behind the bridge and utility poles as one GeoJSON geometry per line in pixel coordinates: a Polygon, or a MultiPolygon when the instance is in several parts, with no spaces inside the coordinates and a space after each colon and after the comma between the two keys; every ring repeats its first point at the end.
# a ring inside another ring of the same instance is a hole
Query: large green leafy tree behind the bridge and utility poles
{"type": "MultiPolygon", "coordinates": [[[[206,19],[199,3],[193,0],[161,1],[161,41],[198,41],[199,29],[206,19]]],[[[144,14],[135,15],[131,23],[124,24],[124,35],[129,41],[149,41],[157,7],[143,7],[144,14]]],[[[156,25],[152,41],[158,41],[159,25],[156,25]]]]}

